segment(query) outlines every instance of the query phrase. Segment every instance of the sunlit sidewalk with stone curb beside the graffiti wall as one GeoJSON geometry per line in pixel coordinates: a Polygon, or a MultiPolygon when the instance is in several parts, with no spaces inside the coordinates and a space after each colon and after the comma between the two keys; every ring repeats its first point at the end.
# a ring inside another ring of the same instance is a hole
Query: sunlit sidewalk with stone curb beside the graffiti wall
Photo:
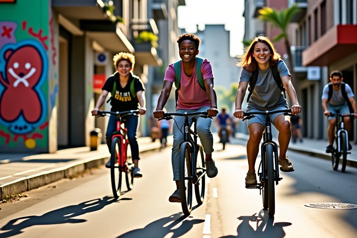
{"type": "MultiPolygon", "coordinates": [[[[169,138],[169,146],[170,142],[172,145],[169,138]]],[[[152,142],[150,137],[139,137],[138,143],[140,152],[160,148],[160,141],[152,142]]],[[[77,147],[52,154],[0,153],[0,201],[6,195],[38,188],[105,164],[109,157],[106,144],[99,145],[96,151],[90,151],[90,147],[77,147]]]]}

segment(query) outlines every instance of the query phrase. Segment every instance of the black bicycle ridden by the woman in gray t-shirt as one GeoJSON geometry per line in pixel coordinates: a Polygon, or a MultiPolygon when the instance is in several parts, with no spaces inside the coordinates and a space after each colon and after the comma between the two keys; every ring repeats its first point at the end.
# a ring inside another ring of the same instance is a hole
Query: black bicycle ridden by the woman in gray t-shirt
{"type": "MultiPolygon", "coordinates": [[[[261,161],[258,168],[259,183],[257,185],[246,185],[246,188],[258,188],[263,197],[263,208],[268,209],[268,215],[275,214],[275,186],[283,178],[279,177],[278,146],[273,141],[271,132],[271,121],[269,115],[283,113],[284,116],[296,116],[291,114],[291,109],[266,110],[264,112],[244,112],[242,121],[255,117],[255,115],[265,115],[265,130],[263,132],[263,142],[261,144],[261,161]]],[[[281,167],[280,167],[281,169],[281,167]]]]}

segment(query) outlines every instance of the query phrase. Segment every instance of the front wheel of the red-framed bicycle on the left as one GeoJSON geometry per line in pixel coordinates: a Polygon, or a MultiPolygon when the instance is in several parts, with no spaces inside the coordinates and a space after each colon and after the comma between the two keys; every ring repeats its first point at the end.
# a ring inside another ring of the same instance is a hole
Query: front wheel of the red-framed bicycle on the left
{"type": "Polygon", "coordinates": [[[121,191],[122,172],[121,167],[118,164],[118,158],[120,158],[121,143],[118,137],[114,137],[111,145],[110,156],[110,180],[113,195],[115,198],[119,198],[121,191]],[[117,156],[115,156],[117,155],[117,156]]]}

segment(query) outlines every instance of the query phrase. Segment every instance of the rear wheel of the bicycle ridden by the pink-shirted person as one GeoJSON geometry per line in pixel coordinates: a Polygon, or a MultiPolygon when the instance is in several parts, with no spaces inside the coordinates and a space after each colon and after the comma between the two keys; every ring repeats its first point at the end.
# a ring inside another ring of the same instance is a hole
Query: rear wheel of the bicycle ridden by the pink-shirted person
{"type": "MultiPolygon", "coordinates": [[[[203,147],[201,145],[197,146],[197,162],[196,162],[196,176],[200,177],[206,171],[205,157],[203,155],[203,147]]],[[[195,184],[195,195],[196,201],[198,205],[203,203],[203,199],[205,198],[205,189],[206,189],[206,174],[202,176],[202,178],[195,184]]]]}

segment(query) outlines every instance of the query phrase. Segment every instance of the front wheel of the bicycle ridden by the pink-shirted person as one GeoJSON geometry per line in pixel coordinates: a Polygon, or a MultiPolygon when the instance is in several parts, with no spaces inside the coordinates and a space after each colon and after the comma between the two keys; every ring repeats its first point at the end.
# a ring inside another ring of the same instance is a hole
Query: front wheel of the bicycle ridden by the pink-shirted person
{"type": "Polygon", "coordinates": [[[180,147],[180,197],[182,212],[190,215],[192,210],[192,176],[191,176],[191,149],[187,142],[182,143],[180,147]]]}

